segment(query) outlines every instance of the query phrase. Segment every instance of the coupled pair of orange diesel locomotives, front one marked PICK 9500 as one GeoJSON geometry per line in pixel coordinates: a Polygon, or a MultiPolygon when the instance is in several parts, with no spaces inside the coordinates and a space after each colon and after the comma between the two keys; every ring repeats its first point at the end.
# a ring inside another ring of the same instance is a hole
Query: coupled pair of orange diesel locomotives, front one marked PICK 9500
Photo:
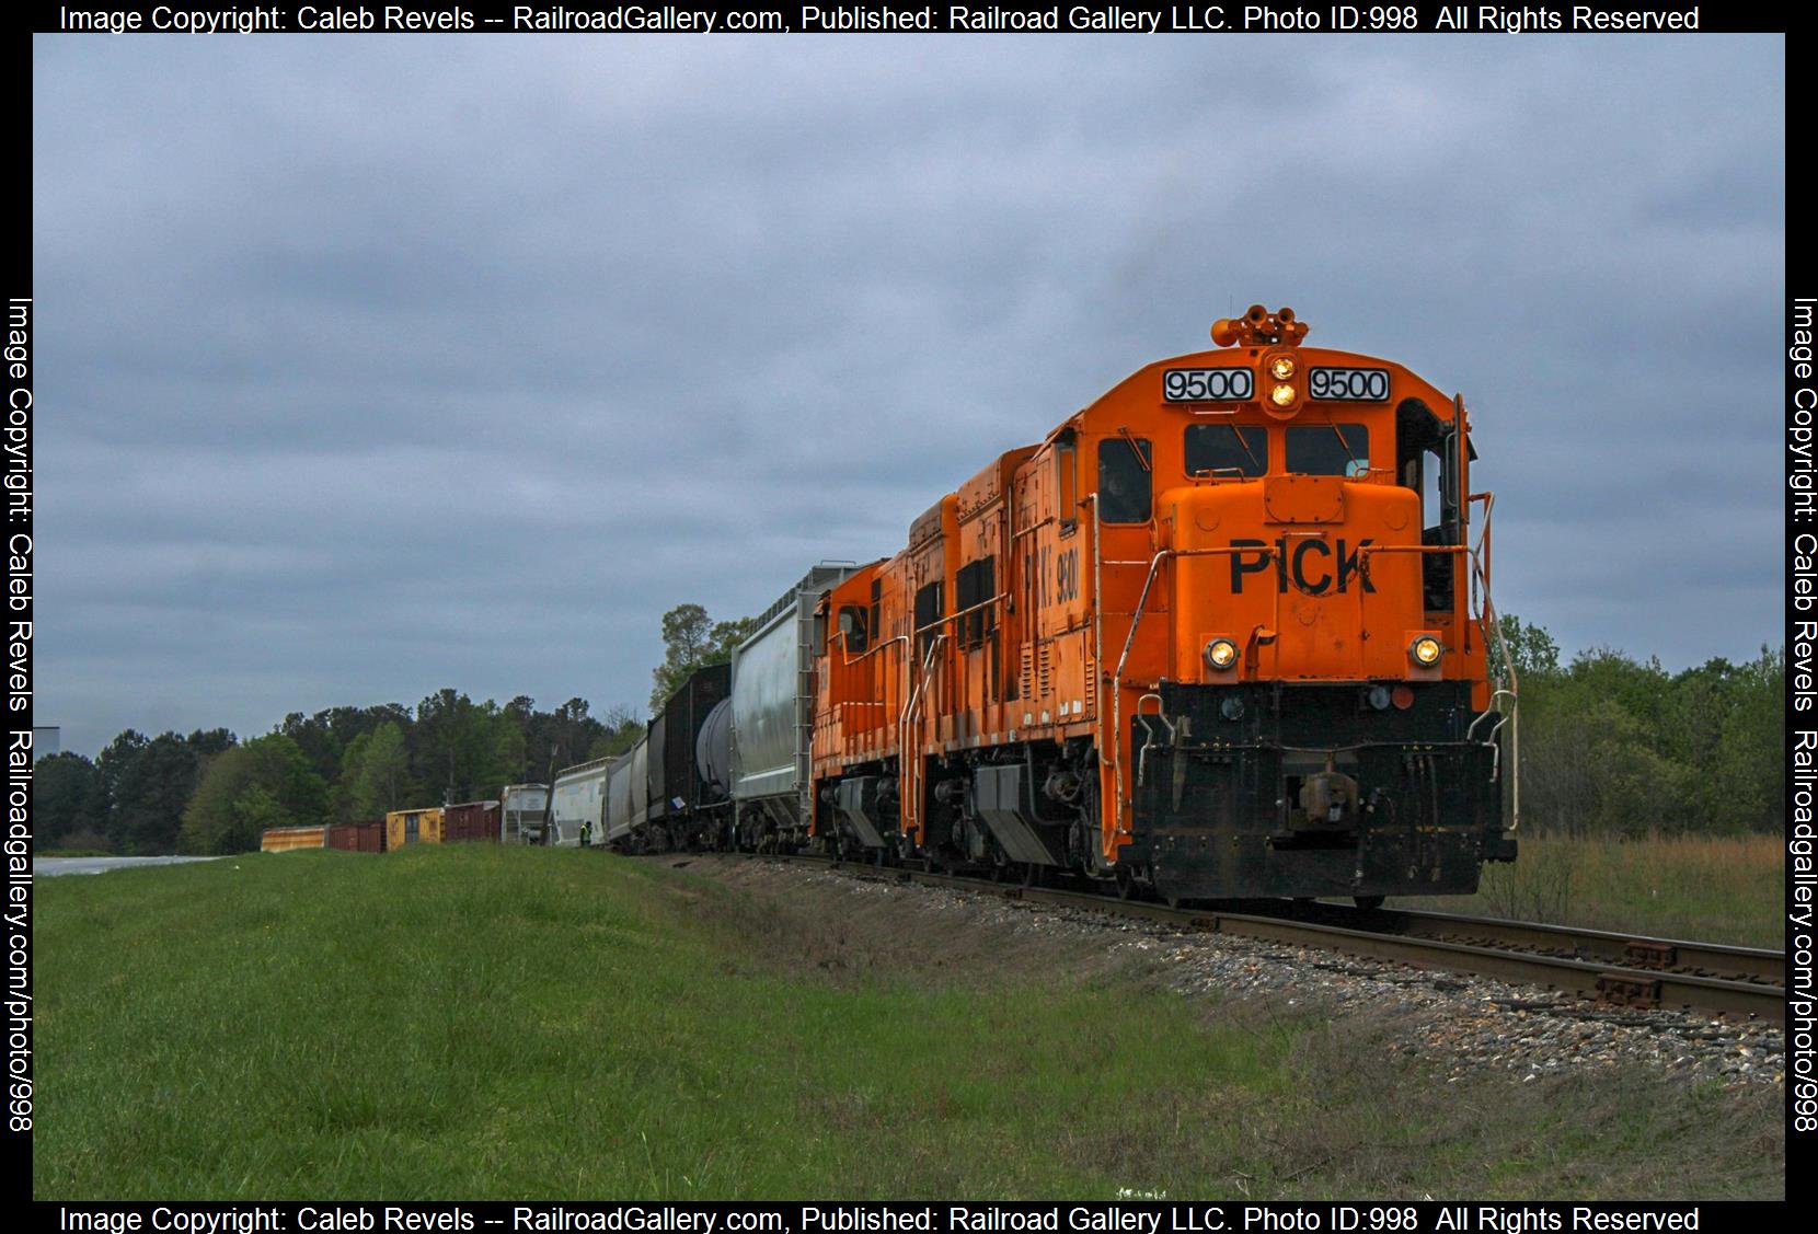
{"type": "Polygon", "coordinates": [[[1305,333],[1220,320],[827,591],[811,834],[1176,903],[1514,858],[1463,403],[1305,333]]]}

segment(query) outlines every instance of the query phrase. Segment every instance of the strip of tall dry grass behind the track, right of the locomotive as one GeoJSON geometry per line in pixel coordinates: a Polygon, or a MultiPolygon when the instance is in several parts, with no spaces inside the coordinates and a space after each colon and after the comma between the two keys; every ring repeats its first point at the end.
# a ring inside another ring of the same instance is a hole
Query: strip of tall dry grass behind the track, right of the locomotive
{"type": "Polygon", "coordinates": [[[1487,865],[1476,896],[1396,898],[1391,903],[1702,943],[1785,947],[1783,871],[1785,849],[1774,836],[1633,843],[1522,836],[1520,860],[1487,865]]]}

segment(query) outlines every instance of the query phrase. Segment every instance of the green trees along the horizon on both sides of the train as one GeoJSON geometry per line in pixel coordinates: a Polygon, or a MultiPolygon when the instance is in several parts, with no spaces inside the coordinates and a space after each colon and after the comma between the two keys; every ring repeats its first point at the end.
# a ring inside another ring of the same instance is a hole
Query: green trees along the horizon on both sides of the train
{"type": "MultiPolygon", "coordinates": [[[[665,612],[651,711],[694,669],[725,663],[751,625],[713,622],[694,603],[665,612]]],[[[1783,651],[1667,672],[1607,647],[1562,663],[1553,636],[1516,616],[1502,631],[1520,678],[1525,829],[1616,838],[1782,829],[1783,651]]],[[[93,761],[40,760],[33,816],[44,849],[242,852],[269,827],[369,820],[547,781],[560,767],[631,749],[642,732],[624,705],[593,716],[584,698],[538,711],[524,694],[498,705],[454,689],[415,709],[291,712],[247,741],[225,729],[153,738],[127,729],[93,761]]]]}

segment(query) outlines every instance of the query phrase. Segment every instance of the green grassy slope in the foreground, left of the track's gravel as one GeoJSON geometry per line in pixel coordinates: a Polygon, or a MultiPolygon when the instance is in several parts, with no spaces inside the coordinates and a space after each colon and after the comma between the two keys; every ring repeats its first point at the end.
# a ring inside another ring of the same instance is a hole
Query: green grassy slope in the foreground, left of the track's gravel
{"type": "Polygon", "coordinates": [[[47,880],[33,1190],[1783,1190],[1771,1090],[1447,1085],[1387,1050],[1393,1020],[1185,1000],[1078,936],[914,903],[489,847],[47,880]]]}

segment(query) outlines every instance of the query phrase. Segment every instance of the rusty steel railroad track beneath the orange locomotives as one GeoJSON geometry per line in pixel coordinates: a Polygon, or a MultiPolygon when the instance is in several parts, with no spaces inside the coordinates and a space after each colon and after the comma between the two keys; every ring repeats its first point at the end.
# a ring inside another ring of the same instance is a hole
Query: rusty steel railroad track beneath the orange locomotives
{"type": "Polygon", "coordinates": [[[1453,912],[1358,911],[1340,905],[1284,905],[1242,912],[1169,909],[1062,887],[1007,887],[904,867],[873,867],[814,854],[767,856],[853,871],[858,878],[960,887],[1007,900],[1054,903],[1091,912],[1164,921],[1298,947],[1318,947],[1416,969],[1443,969],[1536,985],[1611,1007],[1696,1010],[1727,1020],[1785,1025],[1785,952],[1682,940],[1643,938],[1569,925],[1502,921],[1453,912]]]}

